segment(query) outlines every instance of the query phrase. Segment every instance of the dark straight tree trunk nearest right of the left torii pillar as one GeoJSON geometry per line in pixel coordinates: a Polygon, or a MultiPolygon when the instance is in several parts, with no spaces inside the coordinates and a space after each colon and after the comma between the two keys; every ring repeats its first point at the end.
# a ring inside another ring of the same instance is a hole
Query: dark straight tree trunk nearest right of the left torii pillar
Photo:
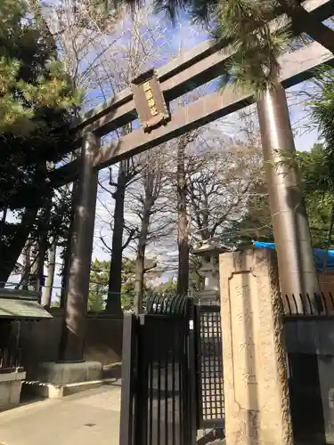
{"type": "Polygon", "coordinates": [[[112,246],[110,259],[110,276],[108,297],[105,311],[119,315],[122,313],[122,258],[124,231],[124,201],[126,196],[126,161],[121,161],[118,172],[118,185],[113,197],[115,198],[114,230],[112,232],[112,246]]]}

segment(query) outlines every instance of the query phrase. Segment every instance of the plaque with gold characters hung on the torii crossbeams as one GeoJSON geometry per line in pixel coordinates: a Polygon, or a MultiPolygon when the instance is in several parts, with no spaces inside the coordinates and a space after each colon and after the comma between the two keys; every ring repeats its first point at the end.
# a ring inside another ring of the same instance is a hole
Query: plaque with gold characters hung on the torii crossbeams
{"type": "Polygon", "coordinates": [[[155,69],[135,77],[131,82],[135,108],[144,132],[166,124],[169,112],[155,69]]]}

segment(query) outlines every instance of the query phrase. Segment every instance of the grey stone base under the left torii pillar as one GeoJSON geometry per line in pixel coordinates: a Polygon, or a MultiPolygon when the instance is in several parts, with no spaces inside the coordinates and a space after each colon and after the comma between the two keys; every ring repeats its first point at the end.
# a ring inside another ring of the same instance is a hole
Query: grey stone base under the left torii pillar
{"type": "Polygon", "coordinates": [[[37,380],[27,382],[29,392],[59,399],[103,384],[103,367],[98,361],[50,361],[37,367],[37,380]]]}

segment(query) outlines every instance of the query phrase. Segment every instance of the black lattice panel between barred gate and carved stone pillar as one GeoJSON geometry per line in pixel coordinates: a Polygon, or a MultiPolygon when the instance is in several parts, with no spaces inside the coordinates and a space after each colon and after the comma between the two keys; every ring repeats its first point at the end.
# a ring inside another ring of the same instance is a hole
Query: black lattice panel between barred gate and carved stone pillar
{"type": "Polygon", "coordinates": [[[220,306],[197,305],[199,428],[224,428],[223,344],[220,306]]]}

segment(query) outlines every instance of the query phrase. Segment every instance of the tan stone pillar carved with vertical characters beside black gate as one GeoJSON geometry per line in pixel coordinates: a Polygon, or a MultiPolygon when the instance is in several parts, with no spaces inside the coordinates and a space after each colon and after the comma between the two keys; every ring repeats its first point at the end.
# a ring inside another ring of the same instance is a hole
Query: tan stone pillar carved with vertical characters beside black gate
{"type": "Polygon", "coordinates": [[[292,445],[276,254],[219,257],[226,444],[292,445]]]}

